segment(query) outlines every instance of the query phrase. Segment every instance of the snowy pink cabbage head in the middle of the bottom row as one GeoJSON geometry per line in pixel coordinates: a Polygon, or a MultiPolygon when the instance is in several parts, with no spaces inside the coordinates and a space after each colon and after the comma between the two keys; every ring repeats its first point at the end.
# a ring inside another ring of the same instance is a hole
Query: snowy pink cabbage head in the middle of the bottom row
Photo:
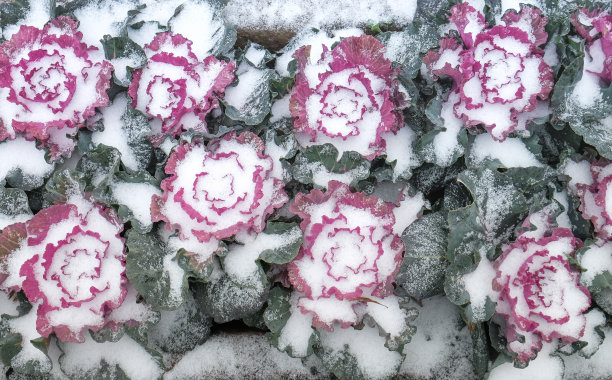
{"type": "Polygon", "coordinates": [[[298,307],[314,315],[313,326],[357,324],[356,304],[393,292],[404,250],[394,232],[394,208],[337,181],[327,185],[326,193],[296,196],[291,211],[302,218],[304,243],[289,264],[289,280],[305,294],[298,307]]]}

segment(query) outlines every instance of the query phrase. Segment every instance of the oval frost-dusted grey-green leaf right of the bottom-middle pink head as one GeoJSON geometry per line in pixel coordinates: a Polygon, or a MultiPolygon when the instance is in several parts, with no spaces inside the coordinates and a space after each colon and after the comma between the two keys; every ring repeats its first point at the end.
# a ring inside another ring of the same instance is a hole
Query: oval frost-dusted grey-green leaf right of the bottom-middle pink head
{"type": "Polygon", "coordinates": [[[443,213],[424,215],[402,234],[406,247],[395,282],[411,296],[423,299],[444,291],[447,240],[443,213]]]}

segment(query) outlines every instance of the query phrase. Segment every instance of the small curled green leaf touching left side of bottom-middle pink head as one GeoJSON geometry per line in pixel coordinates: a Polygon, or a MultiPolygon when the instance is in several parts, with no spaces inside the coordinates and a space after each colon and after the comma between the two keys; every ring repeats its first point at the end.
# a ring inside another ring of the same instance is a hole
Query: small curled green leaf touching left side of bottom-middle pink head
{"type": "Polygon", "coordinates": [[[270,264],[287,264],[297,256],[304,241],[302,230],[297,223],[268,222],[265,234],[287,235],[285,245],[279,248],[266,249],[259,254],[259,259],[270,264]],[[293,237],[293,240],[289,240],[293,237]],[[297,237],[297,238],[295,238],[297,237]]]}

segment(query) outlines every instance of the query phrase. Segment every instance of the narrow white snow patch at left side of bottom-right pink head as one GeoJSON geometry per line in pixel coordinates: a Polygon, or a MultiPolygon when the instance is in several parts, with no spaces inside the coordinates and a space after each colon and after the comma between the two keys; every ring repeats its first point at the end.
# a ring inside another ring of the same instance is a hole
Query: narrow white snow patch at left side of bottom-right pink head
{"type": "Polygon", "coordinates": [[[473,272],[464,275],[461,279],[465,290],[470,294],[470,304],[475,320],[484,321],[486,317],[485,303],[487,298],[495,300],[493,279],[496,271],[486,256],[480,258],[478,267],[473,272]]]}

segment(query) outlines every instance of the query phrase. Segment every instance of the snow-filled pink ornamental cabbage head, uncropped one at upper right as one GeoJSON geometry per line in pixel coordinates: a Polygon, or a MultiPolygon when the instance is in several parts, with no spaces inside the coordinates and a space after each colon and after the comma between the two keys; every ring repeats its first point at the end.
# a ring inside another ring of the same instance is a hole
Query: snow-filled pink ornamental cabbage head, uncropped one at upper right
{"type": "Polygon", "coordinates": [[[538,99],[546,100],[553,87],[540,47],[547,39],[546,18],[523,7],[518,14],[506,13],[504,25],[489,28],[479,11],[463,3],[451,8],[449,19],[462,43],[446,37],[423,62],[433,75],[453,79],[451,94],[460,95],[455,115],[468,127],[484,125],[498,141],[526,130],[535,117],[521,114],[535,111],[538,99]]]}

